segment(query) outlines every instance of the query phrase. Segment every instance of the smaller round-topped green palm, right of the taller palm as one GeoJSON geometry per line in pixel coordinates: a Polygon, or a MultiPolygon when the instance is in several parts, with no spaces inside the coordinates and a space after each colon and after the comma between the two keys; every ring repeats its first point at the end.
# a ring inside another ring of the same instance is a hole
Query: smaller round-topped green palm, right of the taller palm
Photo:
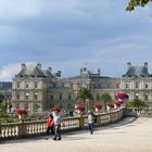
{"type": "Polygon", "coordinates": [[[112,102],[112,97],[105,92],[105,93],[99,96],[99,100],[104,103],[104,109],[106,109],[106,103],[112,102]]]}

